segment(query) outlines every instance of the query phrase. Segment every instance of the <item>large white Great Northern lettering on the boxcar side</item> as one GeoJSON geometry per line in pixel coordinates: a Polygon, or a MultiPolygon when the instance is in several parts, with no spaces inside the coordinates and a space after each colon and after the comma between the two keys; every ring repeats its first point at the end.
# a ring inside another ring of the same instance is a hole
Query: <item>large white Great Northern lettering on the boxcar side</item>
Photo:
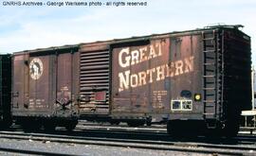
{"type": "Polygon", "coordinates": [[[119,92],[193,71],[194,58],[193,56],[188,56],[180,60],[168,61],[161,65],[149,66],[148,69],[137,73],[133,72],[132,66],[161,57],[163,53],[163,43],[152,43],[133,50],[130,47],[120,49],[119,68],[129,67],[129,70],[119,72],[119,92]]]}

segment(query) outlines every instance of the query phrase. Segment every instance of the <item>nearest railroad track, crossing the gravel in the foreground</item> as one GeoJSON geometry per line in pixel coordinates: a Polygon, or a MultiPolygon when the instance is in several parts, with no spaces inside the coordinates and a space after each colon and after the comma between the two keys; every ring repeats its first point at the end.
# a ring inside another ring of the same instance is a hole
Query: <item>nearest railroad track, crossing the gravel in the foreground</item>
{"type": "MultiPolygon", "coordinates": [[[[214,145],[193,142],[157,141],[123,138],[102,138],[88,136],[67,136],[45,133],[25,133],[23,131],[0,131],[0,138],[16,140],[49,141],[65,144],[83,144],[111,147],[134,147],[156,150],[174,150],[182,152],[228,154],[228,155],[255,155],[255,146],[214,145]]],[[[44,155],[44,154],[43,154],[44,155]]]]}

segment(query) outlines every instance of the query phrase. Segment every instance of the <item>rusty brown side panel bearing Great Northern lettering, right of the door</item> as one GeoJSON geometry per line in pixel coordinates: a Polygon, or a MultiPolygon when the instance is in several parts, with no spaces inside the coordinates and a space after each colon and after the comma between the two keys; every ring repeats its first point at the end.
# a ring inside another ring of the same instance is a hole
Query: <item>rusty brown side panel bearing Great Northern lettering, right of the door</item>
{"type": "Polygon", "coordinates": [[[112,52],[112,115],[202,118],[202,105],[174,110],[172,100],[193,100],[201,93],[200,36],[163,37],[140,45],[124,45],[112,52]],[[189,96],[188,96],[189,94],[189,96]]]}

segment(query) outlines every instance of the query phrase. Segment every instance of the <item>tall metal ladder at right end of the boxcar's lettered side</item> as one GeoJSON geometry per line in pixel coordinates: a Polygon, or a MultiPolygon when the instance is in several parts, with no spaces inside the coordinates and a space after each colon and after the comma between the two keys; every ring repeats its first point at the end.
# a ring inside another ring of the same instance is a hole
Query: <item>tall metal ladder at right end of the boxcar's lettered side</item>
{"type": "Polygon", "coordinates": [[[209,129],[216,128],[217,107],[219,102],[219,48],[218,33],[215,30],[203,32],[203,98],[204,119],[209,129]]]}

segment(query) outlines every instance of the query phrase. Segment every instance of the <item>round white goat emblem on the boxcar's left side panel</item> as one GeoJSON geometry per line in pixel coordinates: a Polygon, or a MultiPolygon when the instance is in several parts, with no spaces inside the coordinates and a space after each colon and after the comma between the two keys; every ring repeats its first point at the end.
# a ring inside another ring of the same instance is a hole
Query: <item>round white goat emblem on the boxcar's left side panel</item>
{"type": "Polygon", "coordinates": [[[38,58],[30,61],[29,73],[32,79],[39,79],[43,74],[43,62],[38,58]]]}

